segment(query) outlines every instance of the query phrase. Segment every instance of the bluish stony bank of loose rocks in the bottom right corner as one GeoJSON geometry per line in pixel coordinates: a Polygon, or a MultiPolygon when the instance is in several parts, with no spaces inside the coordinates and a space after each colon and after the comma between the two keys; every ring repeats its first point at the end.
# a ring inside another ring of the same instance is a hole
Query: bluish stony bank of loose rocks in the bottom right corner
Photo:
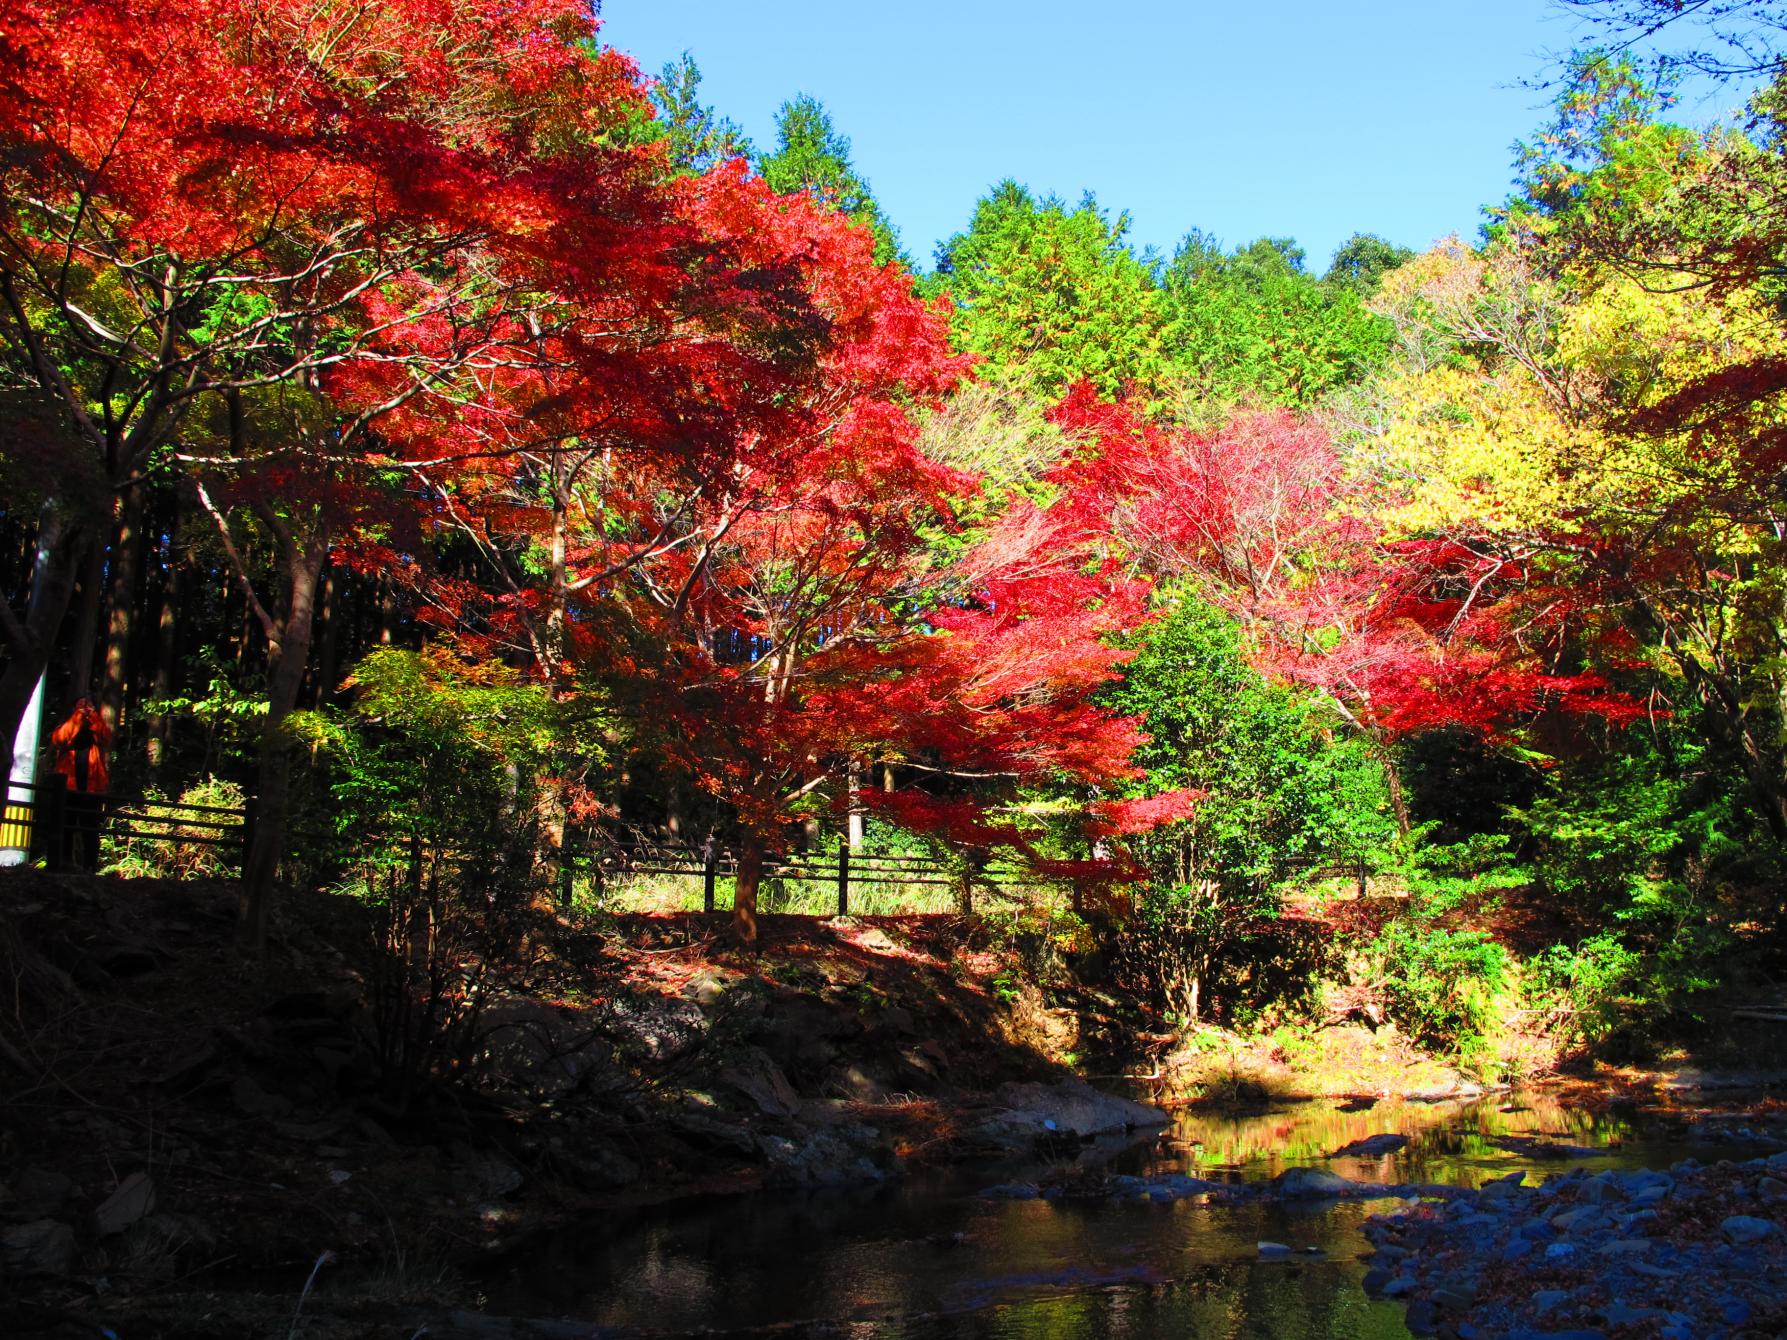
{"type": "Polygon", "coordinates": [[[1365,1288],[1447,1340],[1787,1333],[1787,1154],[1539,1185],[1510,1174],[1371,1222],[1365,1288]]]}

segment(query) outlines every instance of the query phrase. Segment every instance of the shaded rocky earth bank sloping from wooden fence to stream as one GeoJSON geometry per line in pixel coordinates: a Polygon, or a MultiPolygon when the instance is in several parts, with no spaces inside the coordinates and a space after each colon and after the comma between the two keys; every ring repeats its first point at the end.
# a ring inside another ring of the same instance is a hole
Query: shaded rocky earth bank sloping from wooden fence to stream
{"type": "Polygon", "coordinates": [[[363,1335],[604,1208],[1145,1126],[1076,1070],[1162,1104],[1471,1092],[1363,1027],[1301,1068],[1181,1063],[1162,1020],[1045,997],[944,917],[767,918],[743,954],[699,915],[541,915],[431,1027],[372,920],[293,895],[254,959],[231,884],[0,874],[0,1335],[286,1335],[313,1274],[302,1333],[363,1335]]]}

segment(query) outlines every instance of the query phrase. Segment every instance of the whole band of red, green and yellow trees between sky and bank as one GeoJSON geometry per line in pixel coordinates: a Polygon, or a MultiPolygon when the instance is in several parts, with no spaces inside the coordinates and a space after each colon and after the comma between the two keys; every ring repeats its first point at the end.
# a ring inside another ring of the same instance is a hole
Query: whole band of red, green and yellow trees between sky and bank
{"type": "Polygon", "coordinates": [[[1181,1036],[1496,1077],[1778,981],[1776,66],[1687,125],[1580,52],[1426,250],[1003,180],[915,257],[810,96],[341,13],[0,13],[0,736],[89,699],[113,793],[254,800],[102,868],[264,952],[416,863],[613,936],[708,843],[752,947],[842,842],[1181,1036]]]}

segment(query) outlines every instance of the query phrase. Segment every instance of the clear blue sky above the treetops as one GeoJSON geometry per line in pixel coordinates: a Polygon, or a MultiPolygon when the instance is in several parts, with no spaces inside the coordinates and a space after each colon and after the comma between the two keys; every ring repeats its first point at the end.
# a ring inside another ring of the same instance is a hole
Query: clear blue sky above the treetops
{"type": "Polygon", "coordinates": [[[704,100],[759,147],[784,98],[824,102],[924,268],[1003,177],[1090,189],[1163,252],[1190,227],[1288,234],[1317,272],[1360,230],[1469,236],[1544,120],[1521,80],[1576,39],[1546,0],[604,0],[602,16],[647,73],[688,50],[704,100]]]}

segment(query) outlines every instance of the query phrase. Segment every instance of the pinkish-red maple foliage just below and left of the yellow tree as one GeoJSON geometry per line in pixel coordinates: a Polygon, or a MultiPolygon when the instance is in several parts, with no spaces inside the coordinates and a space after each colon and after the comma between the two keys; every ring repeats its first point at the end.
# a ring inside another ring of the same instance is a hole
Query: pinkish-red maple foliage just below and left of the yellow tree
{"type": "Polygon", "coordinates": [[[1560,668],[1589,631],[1571,591],[1456,541],[1380,540],[1383,500],[1313,423],[1265,413],[1188,432],[1085,388],[1056,422],[1083,441],[1076,484],[1106,500],[1137,561],[1196,582],[1251,629],[1262,670],[1374,738],[1639,711],[1605,677],[1560,668]]]}

